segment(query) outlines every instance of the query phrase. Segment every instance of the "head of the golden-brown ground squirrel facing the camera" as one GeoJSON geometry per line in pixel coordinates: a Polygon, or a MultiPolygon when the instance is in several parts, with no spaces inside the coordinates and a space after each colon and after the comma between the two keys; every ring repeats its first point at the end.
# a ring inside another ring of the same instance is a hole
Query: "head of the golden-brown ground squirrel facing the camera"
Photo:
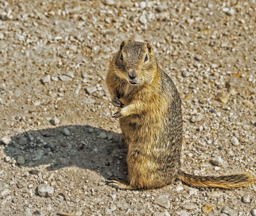
{"type": "Polygon", "coordinates": [[[157,62],[150,43],[123,41],[113,55],[112,69],[130,85],[145,85],[154,80],[157,62]]]}

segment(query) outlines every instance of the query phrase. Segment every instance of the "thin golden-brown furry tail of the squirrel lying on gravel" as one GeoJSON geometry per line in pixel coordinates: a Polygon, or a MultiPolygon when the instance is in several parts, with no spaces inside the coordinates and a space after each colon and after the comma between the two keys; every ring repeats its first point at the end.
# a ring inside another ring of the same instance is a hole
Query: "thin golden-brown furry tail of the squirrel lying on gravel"
{"type": "Polygon", "coordinates": [[[179,171],[179,180],[194,187],[218,187],[235,188],[246,187],[256,182],[256,178],[250,173],[224,175],[224,176],[198,176],[179,171]]]}

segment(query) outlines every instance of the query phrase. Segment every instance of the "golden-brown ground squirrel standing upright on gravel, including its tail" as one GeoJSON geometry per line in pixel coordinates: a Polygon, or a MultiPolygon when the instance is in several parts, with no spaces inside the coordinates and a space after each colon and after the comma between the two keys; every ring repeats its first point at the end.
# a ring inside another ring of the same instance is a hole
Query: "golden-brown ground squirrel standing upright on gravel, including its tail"
{"type": "Polygon", "coordinates": [[[255,181],[250,174],[195,176],[180,171],[182,112],[179,92],[157,65],[150,43],[123,41],[109,62],[106,83],[127,143],[129,181],[118,189],[156,189],[176,179],[195,187],[233,188],[255,181]]]}

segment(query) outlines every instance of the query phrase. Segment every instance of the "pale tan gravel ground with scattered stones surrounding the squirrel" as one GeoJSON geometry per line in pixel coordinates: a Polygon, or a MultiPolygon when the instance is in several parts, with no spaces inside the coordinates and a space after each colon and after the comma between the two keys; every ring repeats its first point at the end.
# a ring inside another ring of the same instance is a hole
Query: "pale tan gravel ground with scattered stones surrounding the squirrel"
{"type": "Polygon", "coordinates": [[[179,89],[182,169],[255,173],[255,0],[0,1],[0,215],[256,215],[255,185],[106,185],[127,176],[104,83],[123,40],[179,89]]]}

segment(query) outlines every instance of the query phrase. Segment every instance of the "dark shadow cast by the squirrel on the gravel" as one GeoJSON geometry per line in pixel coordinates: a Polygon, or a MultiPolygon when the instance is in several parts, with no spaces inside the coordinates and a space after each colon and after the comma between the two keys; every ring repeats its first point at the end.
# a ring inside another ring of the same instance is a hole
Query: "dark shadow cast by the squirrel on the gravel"
{"type": "Polygon", "coordinates": [[[127,178],[127,150],[120,136],[92,126],[60,126],[26,131],[12,137],[4,148],[18,166],[34,168],[48,165],[47,170],[78,166],[97,171],[106,179],[127,178]],[[68,131],[67,131],[68,129],[68,131]],[[69,134],[68,134],[69,132],[69,134]],[[122,146],[119,146],[121,143],[122,146]]]}

